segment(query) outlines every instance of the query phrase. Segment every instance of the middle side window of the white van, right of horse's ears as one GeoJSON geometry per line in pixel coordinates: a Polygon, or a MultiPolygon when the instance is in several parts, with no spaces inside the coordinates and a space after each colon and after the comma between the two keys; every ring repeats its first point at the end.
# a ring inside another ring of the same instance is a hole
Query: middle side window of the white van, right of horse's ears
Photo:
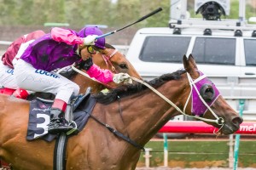
{"type": "Polygon", "coordinates": [[[196,63],[235,65],[236,38],[196,37],[192,54],[196,63]]]}

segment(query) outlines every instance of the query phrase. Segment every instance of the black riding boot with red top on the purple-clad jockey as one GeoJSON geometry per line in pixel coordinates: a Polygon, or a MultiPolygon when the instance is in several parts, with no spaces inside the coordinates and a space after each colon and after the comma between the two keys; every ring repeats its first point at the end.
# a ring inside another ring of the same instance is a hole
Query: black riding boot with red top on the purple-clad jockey
{"type": "Polygon", "coordinates": [[[61,132],[68,132],[73,129],[65,119],[67,103],[61,99],[55,99],[50,110],[50,121],[48,125],[48,132],[57,134],[61,132]]]}

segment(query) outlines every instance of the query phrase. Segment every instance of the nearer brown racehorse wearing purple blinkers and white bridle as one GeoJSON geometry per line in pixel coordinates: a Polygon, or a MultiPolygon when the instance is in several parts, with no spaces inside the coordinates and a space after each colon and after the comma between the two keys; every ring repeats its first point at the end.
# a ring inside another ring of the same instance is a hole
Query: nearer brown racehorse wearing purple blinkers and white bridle
{"type": "MultiPolygon", "coordinates": [[[[89,121],[67,143],[66,169],[135,169],[143,145],[182,113],[218,127],[218,133],[235,133],[241,117],[197,69],[192,55],[183,56],[183,65],[184,70],[148,82],[154,89],[146,83],[130,84],[93,95],[97,102],[89,121]]],[[[55,141],[26,140],[29,103],[0,95],[0,106],[0,156],[16,170],[53,169],[55,141]]]]}

